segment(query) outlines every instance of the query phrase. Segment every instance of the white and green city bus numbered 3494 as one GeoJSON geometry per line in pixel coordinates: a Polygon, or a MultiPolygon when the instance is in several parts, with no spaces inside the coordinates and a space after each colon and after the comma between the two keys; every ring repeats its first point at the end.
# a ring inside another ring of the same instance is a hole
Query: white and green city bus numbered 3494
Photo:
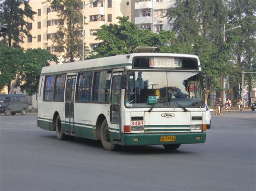
{"type": "Polygon", "coordinates": [[[38,127],[116,145],[205,143],[198,56],[143,52],[44,67],[38,127]]]}

